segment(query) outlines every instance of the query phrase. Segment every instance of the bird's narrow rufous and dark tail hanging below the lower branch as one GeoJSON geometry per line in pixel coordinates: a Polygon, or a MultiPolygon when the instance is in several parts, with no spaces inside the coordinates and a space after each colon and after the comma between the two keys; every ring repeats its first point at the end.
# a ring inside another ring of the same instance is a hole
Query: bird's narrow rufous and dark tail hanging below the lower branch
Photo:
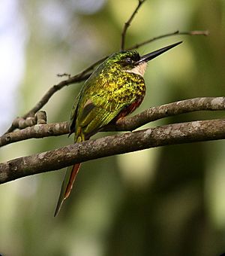
{"type": "Polygon", "coordinates": [[[62,182],[62,187],[58,197],[58,203],[55,208],[54,217],[58,215],[58,212],[60,211],[64,200],[66,200],[71,194],[71,190],[72,190],[75,178],[77,176],[77,173],[79,172],[79,169],[80,169],[80,163],[76,163],[74,164],[74,166],[68,167],[67,172],[65,174],[64,181],[62,182]]]}

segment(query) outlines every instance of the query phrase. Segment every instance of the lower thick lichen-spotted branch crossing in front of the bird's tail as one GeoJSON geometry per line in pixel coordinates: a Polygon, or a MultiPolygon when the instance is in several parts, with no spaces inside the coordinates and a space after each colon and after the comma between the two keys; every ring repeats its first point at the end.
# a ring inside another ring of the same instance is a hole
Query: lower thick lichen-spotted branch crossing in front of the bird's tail
{"type": "Polygon", "coordinates": [[[175,123],[133,133],[107,136],[0,163],[0,184],[115,154],[163,145],[217,139],[225,139],[224,119],[175,123]]]}

